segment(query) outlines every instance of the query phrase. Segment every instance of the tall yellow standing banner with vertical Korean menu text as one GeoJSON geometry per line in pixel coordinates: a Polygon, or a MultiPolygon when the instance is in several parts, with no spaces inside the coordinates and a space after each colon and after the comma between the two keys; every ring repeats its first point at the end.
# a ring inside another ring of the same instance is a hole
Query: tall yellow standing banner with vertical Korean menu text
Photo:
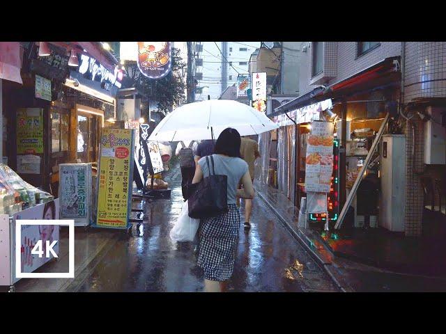
{"type": "Polygon", "coordinates": [[[132,205],[134,131],[103,128],[95,227],[128,228],[132,205]]]}

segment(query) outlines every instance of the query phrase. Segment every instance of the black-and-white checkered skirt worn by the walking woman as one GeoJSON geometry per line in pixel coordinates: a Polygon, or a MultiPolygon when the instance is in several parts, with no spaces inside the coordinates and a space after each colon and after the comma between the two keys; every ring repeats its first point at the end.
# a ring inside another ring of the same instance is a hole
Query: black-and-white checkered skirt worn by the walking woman
{"type": "Polygon", "coordinates": [[[236,204],[229,204],[225,214],[201,219],[197,264],[203,269],[204,278],[221,282],[232,276],[239,229],[240,211],[236,204]]]}

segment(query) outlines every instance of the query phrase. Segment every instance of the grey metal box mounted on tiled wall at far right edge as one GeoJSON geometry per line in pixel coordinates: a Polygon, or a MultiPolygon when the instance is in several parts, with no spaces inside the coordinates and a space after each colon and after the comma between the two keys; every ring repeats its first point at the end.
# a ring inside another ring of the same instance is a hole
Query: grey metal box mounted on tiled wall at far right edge
{"type": "Polygon", "coordinates": [[[446,127],[441,125],[445,108],[429,106],[426,113],[430,116],[424,123],[424,164],[446,164],[446,127]]]}

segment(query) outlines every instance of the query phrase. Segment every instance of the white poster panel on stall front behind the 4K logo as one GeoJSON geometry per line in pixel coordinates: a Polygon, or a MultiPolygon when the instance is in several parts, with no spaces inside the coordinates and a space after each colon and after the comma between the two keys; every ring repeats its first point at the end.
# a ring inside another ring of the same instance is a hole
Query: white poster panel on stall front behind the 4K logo
{"type": "MultiPolygon", "coordinates": [[[[15,220],[17,219],[59,219],[59,199],[46,202],[45,204],[36,205],[29,209],[24,209],[21,212],[17,212],[13,215],[15,220]]],[[[52,244],[54,240],[59,240],[59,226],[58,225],[22,225],[22,232],[20,233],[21,245],[21,272],[32,273],[39,267],[43,266],[49,260],[50,257],[39,257],[36,254],[32,254],[34,246],[38,240],[43,241],[45,248],[46,241],[52,244]]],[[[15,248],[13,248],[15,249],[15,248]]],[[[52,247],[54,253],[59,255],[59,242],[52,247]]],[[[45,249],[43,249],[45,252],[45,249]]],[[[46,253],[46,252],[45,252],[46,253]]],[[[49,252],[49,254],[52,254],[49,252]]]]}

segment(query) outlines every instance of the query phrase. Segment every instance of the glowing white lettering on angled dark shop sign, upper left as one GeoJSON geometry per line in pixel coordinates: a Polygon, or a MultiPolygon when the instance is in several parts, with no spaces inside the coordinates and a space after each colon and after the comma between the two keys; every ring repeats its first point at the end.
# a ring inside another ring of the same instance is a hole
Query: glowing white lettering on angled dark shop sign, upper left
{"type": "Polygon", "coordinates": [[[79,73],[82,74],[85,79],[105,83],[105,90],[111,90],[112,86],[121,88],[123,72],[118,70],[117,67],[115,67],[114,72],[112,72],[96,61],[95,58],[87,56],[86,54],[78,54],[78,58],[81,61],[79,65],[79,73]]]}

